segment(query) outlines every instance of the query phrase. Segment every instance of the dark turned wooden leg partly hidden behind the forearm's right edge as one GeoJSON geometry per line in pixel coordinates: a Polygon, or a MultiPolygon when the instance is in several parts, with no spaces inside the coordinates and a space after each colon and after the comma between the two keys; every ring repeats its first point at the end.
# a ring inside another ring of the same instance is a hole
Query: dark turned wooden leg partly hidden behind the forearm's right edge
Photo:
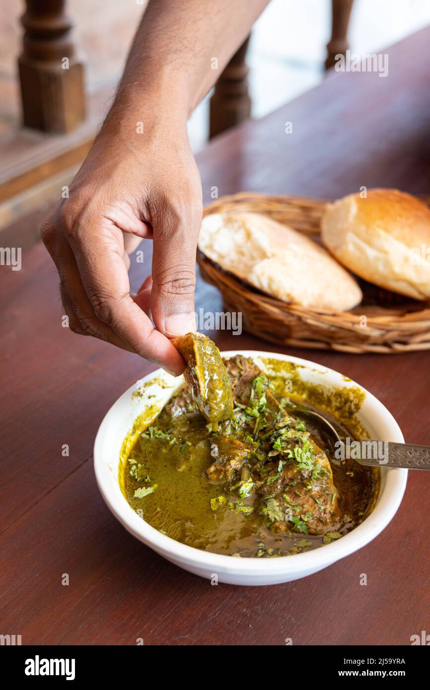
{"type": "Polygon", "coordinates": [[[246,50],[249,36],[233,55],[219,77],[211,98],[209,137],[240,124],[251,115],[251,97],[248,92],[246,50]]]}

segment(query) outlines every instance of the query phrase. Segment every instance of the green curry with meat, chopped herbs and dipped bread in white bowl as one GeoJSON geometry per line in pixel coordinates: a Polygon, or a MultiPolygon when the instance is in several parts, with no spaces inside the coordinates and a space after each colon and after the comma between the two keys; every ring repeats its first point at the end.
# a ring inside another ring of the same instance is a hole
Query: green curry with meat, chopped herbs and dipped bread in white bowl
{"type": "Polygon", "coordinates": [[[170,538],[242,558],[301,553],[354,529],[373,507],[380,470],[335,460],[324,430],[300,418],[309,403],[251,358],[223,363],[209,343],[190,334],[175,342],[188,385],[135,429],[120,464],[130,506],[170,538]]]}

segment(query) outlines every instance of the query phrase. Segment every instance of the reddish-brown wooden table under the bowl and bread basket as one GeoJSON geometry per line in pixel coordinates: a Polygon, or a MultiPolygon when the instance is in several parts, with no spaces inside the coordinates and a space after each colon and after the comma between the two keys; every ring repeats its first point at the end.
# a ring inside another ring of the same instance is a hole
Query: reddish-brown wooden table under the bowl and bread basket
{"type": "MultiPolygon", "coordinates": [[[[213,186],[219,195],[330,198],[362,185],[429,193],[429,41],[427,29],[391,48],[388,77],[331,75],[213,141],[198,156],[206,201],[213,186]]],[[[134,285],[148,272],[150,243],[144,249],[134,285]]],[[[0,633],[23,644],[398,645],[429,629],[428,473],[410,473],[397,515],[366,548],[289,584],[211,586],[129,535],[99,495],[92,444],[110,404],[153,366],[61,328],[57,275],[39,244],[20,272],[0,270],[0,633]]],[[[200,306],[221,307],[201,281],[200,306]]],[[[246,334],[213,337],[224,349],[276,349],[246,334]]],[[[430,353],[291,354],[349,375],[387,405],[407,441],[430,444],[430,353]]]]}

